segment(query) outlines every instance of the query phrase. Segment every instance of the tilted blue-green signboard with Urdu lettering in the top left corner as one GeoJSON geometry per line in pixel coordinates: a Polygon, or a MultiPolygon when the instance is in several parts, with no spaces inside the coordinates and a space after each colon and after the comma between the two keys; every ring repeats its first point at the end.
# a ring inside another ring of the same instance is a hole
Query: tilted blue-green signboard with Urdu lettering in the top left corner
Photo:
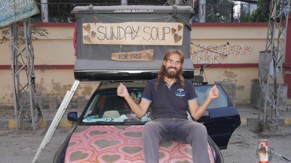
{"type": "Polygon", "coordinates": [[[39,13],[34,0],[1,0],[0,28],[39,13]]]}

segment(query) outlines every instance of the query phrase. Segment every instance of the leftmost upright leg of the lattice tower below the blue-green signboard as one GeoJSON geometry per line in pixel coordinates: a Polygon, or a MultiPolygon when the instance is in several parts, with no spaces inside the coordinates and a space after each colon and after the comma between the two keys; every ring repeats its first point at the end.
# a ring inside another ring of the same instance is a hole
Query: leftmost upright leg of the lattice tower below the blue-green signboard
{"type": "MultiPolygon", "coordinates": [[[[15,23],[14,23],[15,24],[15,23]]],[[[14,25],[13,24],[13,25],[14,25]]],[[[10,41],[10,60],[11,60],[11,78],[12,78],[12,91],[13,91],[13,103],[14,103],[14,113],[15,113],[15,126],[16,126],[16,132],[19,134],[18,131],[18,108],[17,108],[17,103],[16,103],[16,92],[15,92],[15,76],[14,76],[14,47],[13,47],[13,42],[17,41],[17,39],[13,39],[12,42],[12,37],[13,37],[13,25],[9,25],[9,41],[10,41]]]]}

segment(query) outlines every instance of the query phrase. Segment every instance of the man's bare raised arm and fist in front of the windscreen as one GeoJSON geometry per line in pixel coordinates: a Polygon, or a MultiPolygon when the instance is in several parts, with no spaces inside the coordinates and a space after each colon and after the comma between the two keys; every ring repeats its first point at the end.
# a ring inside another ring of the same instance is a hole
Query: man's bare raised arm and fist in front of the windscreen
{"type": "Polygon", "coordinates": [[[140,104],[137,105],[130,97],[126,86],[124,86],[122,83],[117,88],[117,96],[124,97],[124,99],[127,101],[129,107],[131,110],[137,115],[137,117],[141,118],[143,115],[146,114],[146,111],[148,110],[148,107],[150,106],[151,102],[141,99],[140,104]]]}

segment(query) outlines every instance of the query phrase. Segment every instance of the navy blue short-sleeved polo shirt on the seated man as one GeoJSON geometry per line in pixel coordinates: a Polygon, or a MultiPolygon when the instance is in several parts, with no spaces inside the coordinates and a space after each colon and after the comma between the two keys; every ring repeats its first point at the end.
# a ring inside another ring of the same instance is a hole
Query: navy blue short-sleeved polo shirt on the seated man
{"type": "Polygon", "coordinates": [[[188,101],[198,99],[192,82],[184,79],[183,88],[177,80],[168,88],[165,80],[162,79],[155,89],[156,82],[157,79],[148,81],[141,97],[151,102],[153,118],[188,119],[186,113],[188,101]]]}

